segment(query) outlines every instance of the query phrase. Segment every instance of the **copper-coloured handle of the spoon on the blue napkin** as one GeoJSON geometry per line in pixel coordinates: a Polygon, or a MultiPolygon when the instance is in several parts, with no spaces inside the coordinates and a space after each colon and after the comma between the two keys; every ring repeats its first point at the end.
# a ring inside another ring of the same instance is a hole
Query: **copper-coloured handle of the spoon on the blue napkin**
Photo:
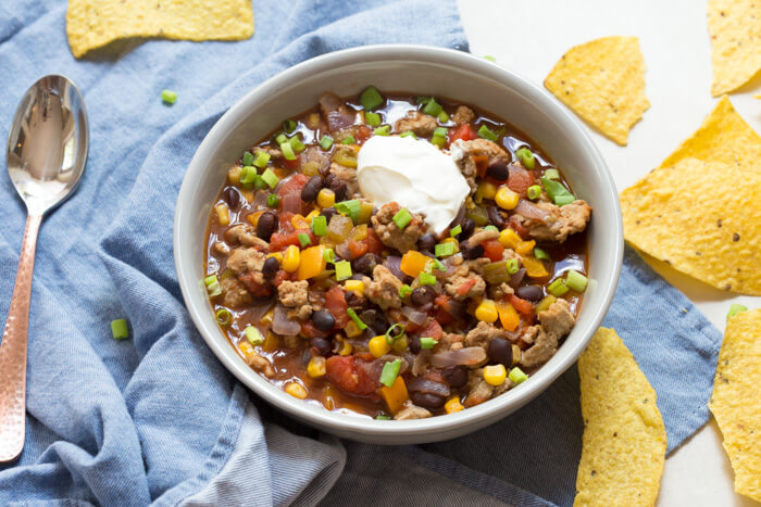
{"type": "Polygon", "coordinates": [[[41,215],[26,217],[16,283],[0,343],[0,462],[14,460],[24,448],[26,338],[35,249],[41,221],[41,215]]]}

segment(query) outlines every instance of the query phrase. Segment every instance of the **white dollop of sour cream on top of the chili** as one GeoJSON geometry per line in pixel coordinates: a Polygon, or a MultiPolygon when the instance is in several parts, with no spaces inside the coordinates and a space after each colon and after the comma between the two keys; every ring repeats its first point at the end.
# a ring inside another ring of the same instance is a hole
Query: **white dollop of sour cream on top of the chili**
{"type": "Polygon", "coordinates": [[[412,137],[370,138],[357,159],[357,179],[365,199],[425,214],[436,233],[451,224],[471,190],[451,156],[412,137]]]}

